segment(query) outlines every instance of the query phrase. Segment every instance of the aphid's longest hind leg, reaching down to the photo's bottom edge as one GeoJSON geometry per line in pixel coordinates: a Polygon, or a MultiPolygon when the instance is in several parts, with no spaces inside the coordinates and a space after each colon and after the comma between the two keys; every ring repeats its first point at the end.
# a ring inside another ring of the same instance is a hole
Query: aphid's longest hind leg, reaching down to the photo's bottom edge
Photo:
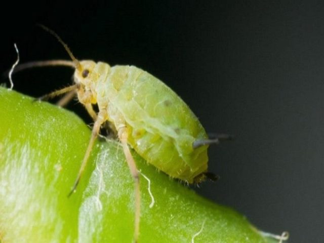
{"type": "Polygon", "coordinates": [[[139,236],[139,226],[140,226],[140,177],[139,172],[136,168],[134,158],[131,151],[127,145],[128,141],[128,129],[126,126],[118,128],[118,138],[123,146],[123,150],[126,156],[127,164],[130,168],[131,174],[135,182],[135,230],[134,230],[134,242],[137,242],[139,236]]]}

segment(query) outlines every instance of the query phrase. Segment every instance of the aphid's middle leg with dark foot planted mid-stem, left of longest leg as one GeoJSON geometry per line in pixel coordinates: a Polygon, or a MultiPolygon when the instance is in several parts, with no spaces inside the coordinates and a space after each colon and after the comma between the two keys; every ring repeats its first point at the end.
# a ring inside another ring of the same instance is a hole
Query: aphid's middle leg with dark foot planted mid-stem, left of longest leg
{"type": "Polygon", "coordinates": [[[95,125],[93,126],[93,129],[92,129],[92,133],[91,133],[91,138],[90,138],[90,141],[89,141],[89,144],[88,144],[88,147],[87,147],[87,151],[86,151],[86,154],[83,158],[83,161],[82,161],[82,164],[81,164],[81,167],[79,169],[79,172],[77,174],[77,177],[75,179],[75,182],[73,184],[73,187],[72,187],[72,190],[70,191],[70,193],[68,194],[68,197],[70,195],[72,195],[72,193],[75,191],[79,181],[80,181],[80,178],[82,177],[83,175],[83,172],[86,168],[86,165],[87,165],[87,162],[88,162],[88,159],[89,159],[89,156],[90,156],[90,153],[91,153],[91,150],[93,148],[93,145],[94,145],[94,142],[99,134],[99,131],[100,131],[100,126],[101,124],[104,123],[104,121],[106,120],[106,116],[103,115],[102,113],[99,113],[98,114],[98,118],[97,120],[95,121],[95,125]]]}

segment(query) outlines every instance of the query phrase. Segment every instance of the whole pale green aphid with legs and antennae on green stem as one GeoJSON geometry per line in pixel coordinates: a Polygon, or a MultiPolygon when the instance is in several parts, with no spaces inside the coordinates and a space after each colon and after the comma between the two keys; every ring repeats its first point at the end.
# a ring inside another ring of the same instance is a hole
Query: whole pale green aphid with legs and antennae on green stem
{"type": "Polygon", "coordinates": [[[207,172],[207,148],[211,143],[229,139],[217,135],[209,139],[197,117],[182,99],[159,79],[135,66],[109,66],[104,62],[78,61],[62,39],[51,29],[41,25],[64,46],[72,61],[41,61],[21,65],[20,69],[34,66],[64,65],[75,68],[74,84],[52,92],[41,99],[66,93],[61,103],[67,103],[77,94],[95,123],[82,165],[71,195],[83,175],[100,127],[110,122],[117,135],[135,182],[134,241],[139,236],[140,188],[139,172],[129,145],[149,164],[173,178],[197,183],[207,172]],[[93,105],[98,106],[98,113],[93,105]]]}

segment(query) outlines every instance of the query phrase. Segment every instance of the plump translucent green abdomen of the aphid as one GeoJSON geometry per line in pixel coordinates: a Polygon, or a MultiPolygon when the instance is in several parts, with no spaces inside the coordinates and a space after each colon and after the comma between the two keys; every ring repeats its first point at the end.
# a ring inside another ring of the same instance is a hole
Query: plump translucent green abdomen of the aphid
{"type": "Polygon", "coordinates": [[[163,82],[134,66],[114,66],[106,92],[109,119],[116,127],[120,117],[125,120],[128,143],[148,163],[189,183],[207,170],[208,146],[192,148],[195,140],[207,138],[206,132],[163,82]]]}

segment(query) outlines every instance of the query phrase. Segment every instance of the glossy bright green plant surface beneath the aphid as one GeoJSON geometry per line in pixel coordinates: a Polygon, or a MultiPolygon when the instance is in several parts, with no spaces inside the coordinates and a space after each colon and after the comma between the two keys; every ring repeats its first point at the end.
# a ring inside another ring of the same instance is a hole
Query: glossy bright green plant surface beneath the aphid
{"type": "MultiPolygon", "coordinates": [[[[74,113],[0,88],[2,242],[132,242],[134,183],[116,141],[98,140],[67,197],[91,131],[74,113]]],[[[141,176],[139,242],[273,242],[245,216],[200,197],[148,165],[141,176]]],[[[1,238],[0,237],[0,238],[1,238]]],[[[1,241],[1,240],[0,240],[1,241]]]]}

